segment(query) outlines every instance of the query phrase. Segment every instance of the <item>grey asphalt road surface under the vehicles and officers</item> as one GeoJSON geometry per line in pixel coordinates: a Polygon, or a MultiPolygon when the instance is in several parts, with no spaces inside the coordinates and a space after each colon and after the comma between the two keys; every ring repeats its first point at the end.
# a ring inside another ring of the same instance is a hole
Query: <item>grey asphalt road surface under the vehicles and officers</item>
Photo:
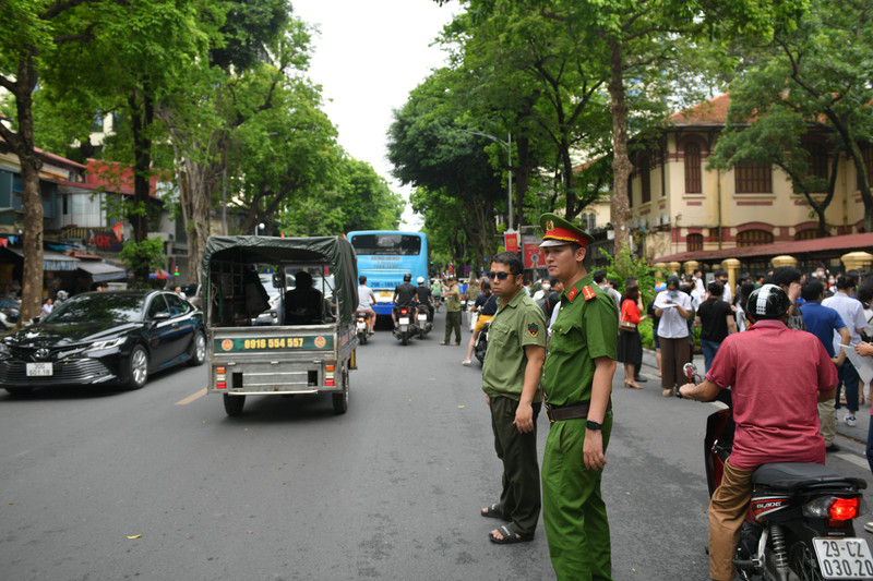
{"type": "MultiPolygon", "coordinates": [[[[263,397],[227,417],[200,396],[206,367],[132,392],[0,391],[0,580],[554,579],[541,523],[531,543],[488,541],[500,463],[479,367],[439,346],[443,318],[423,341],[362,346],[340,416],[326,397],[263,397]]],[[[613,577],[707,579],[714,408],[644,374],[642,391],[614,382],[613,577]]],[[[538,429],[542,449],[545,415],[538,429]]],[[[870,480],[862,445],[840,444],[828,462],[870,480]]]]}

